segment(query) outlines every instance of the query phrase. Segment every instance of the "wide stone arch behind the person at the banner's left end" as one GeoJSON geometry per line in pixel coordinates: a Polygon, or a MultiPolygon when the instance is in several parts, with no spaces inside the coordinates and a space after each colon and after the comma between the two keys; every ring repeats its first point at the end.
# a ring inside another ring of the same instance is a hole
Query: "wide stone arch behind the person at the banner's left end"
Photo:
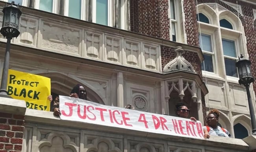
{"type": "Polygon", "coordinates": [[[100,104],[106,104],[105,97],[97,92],[97,89],[91,84],[69,75],[69,73],[62,73],[58,71],[46,71],[46,70],[33,70],[30,71],[32,74],[49,77],[51,79],[51,91],[58,93],[59,95],[69,95],[70,91],[76,84],[81,84],[87,91],[87,100],[93,101],[100,104]]]}

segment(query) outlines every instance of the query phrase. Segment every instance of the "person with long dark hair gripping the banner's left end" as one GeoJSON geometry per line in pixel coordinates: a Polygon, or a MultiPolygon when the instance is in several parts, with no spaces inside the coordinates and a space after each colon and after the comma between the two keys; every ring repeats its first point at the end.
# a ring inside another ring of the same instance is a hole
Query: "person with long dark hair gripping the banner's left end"
{"type": "MultiPolygon", "coordinates": [[[[85,87],[80,84],[76,84],[76,86],[74,86],[74,88],[71,90],[69,96],[87,100],[87,93],[86,93],[85,87]]],[[[54,107],[53,107],[53,114],[59,117],[61,115],[61,112],[59,110],[59,96],[56,96],[54,102],[55,103],[54,103],[54,107]]]]}

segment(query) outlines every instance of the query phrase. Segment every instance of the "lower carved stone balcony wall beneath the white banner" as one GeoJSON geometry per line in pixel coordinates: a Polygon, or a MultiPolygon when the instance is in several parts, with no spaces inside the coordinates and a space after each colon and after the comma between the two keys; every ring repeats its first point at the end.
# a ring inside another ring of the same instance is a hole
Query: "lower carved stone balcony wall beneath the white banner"
{"type": "Polygon", "coordinates": [[[193,139],[70,122],[27,109],[22,152],[247,152],[242,139],[193,139]]]}

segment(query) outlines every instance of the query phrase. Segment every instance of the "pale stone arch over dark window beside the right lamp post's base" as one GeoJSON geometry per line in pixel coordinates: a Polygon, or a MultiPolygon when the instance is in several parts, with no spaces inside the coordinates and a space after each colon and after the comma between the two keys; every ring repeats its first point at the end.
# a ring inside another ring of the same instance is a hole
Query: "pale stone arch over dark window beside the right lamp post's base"
{"type": "Polygon", "coordinates": [[[247,129],[248,135],[250,136],[252,133],[250,117],[248,117],[247,115],[244,115],[244,114],[235,115],[233,117],[233,126],[238,123],[240,123],[247,129]]]}

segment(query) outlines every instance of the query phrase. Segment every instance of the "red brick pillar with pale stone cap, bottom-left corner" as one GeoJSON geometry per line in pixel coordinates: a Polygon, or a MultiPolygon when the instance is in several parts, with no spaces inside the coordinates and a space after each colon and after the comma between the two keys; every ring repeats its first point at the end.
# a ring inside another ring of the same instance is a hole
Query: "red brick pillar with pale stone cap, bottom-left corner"
{"type": "Polygon", "coordinates": [[[21,152],[25,101],[0,97],[0,152],[21,152]]]}

